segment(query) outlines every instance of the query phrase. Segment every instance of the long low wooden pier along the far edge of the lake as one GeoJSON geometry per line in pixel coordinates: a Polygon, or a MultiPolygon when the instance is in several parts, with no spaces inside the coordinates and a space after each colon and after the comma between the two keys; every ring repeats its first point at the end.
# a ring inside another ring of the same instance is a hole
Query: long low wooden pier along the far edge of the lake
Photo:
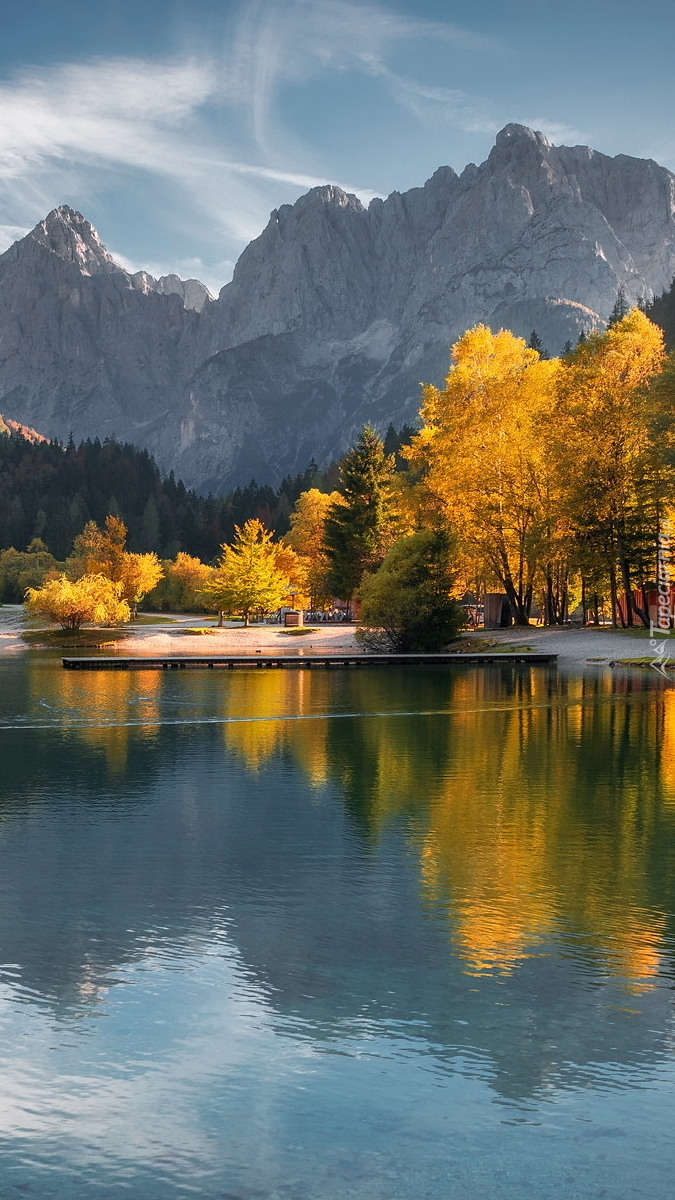
{"type": "Polygon", "coordinates": [[[465,666],[473,664],[496,665],[527,662],[532,666],[551,666],[557,654],[172,654],[147,658],[61,659],[66,671],[213,671],[235,668],[310,668],[310,667],[408,667],[408,666],[465,666]]]}

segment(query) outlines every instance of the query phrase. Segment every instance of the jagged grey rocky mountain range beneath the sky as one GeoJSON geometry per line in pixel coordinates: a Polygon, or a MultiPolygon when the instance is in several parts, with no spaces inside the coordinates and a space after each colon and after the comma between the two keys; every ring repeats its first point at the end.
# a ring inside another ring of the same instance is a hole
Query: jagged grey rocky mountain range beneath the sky
{"type": "Polygon", "coordinates": [[[130,275],[71,209],[0,256],[0,406],[52,436],[147,445],[201,490],[276,481],[419,383],[484,320],[551,353],[675,275],[675,176],[508,125],[488,160],[365,209],[318,187],[271,214],[213,300],[130,275]]]}

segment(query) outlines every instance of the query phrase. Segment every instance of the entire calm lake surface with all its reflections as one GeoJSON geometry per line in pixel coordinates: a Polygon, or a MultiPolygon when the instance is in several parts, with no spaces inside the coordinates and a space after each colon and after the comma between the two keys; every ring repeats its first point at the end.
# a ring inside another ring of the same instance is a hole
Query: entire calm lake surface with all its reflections
{"type": "Polygon", "coordinates": [[[673,1194],[655,672],[0,661],[0,1195],[673,1194]]]}

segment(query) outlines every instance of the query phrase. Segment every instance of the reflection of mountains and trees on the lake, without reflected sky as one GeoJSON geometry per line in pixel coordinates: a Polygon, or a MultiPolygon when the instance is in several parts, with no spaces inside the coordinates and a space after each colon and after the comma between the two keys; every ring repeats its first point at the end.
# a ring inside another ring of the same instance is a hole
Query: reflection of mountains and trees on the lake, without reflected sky
{"type": "Polygon", "coordinates": [[[26,1003],[70,1019],[125,964],[234,944],[281,1031],[405,1031],[502,1099],[661,1062],[675,694],[656,677],[1,674],[0,958],[26,1003]]]}

